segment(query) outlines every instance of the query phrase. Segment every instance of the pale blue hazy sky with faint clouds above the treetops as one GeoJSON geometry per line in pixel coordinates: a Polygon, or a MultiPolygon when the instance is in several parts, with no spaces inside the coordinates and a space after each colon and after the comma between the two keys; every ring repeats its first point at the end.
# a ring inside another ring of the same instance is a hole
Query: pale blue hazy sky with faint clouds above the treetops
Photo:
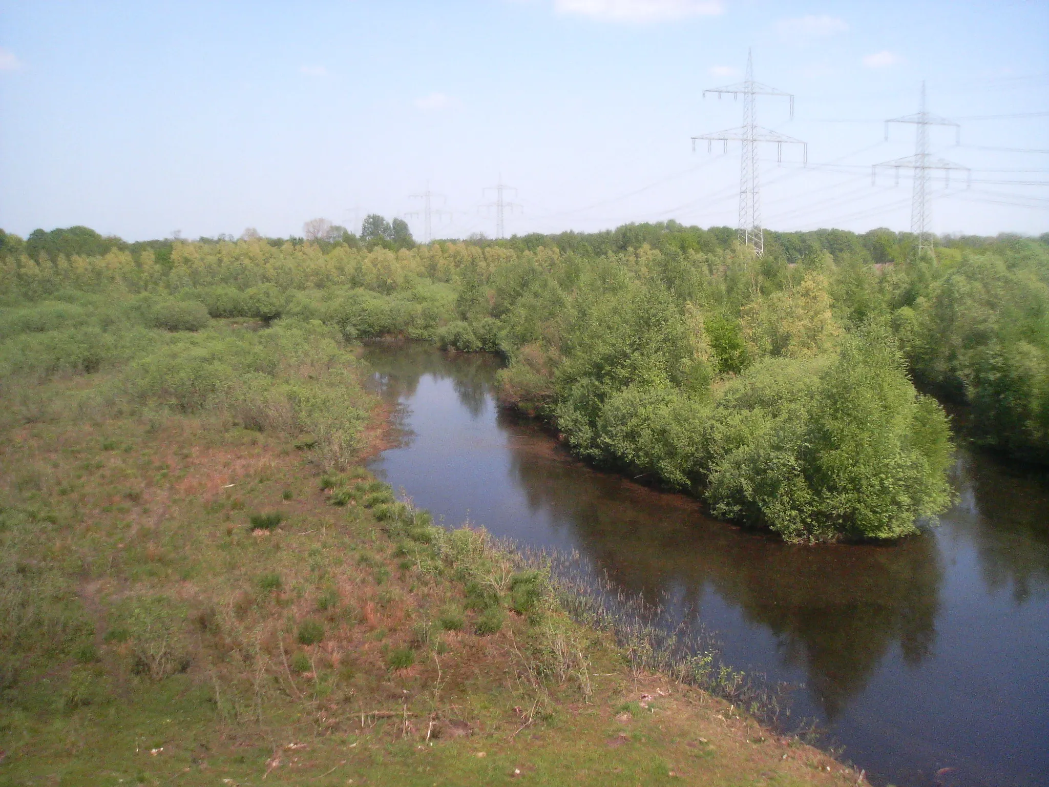
{"type": "Polygon", "coordinates": [[[1049,231],[1049,3],[1002,0],[0,0],[0,227],[287,235],[379,212],[420,237],[429,183],[454,211],[436,235],[491,236],[500,173],[508,233],[734,226],[738,147],[689,137],[741,124],[701,92],[748,47],[796,95],[758,123],[809,143],[808,169],[763,150],[766,227],[909,229],[909,178],[872,187],[871,165],[914,152],[881,121],[926,80],[962,124],[936,153],[972,169],[938,184],[933,229],[1049,231]]]}

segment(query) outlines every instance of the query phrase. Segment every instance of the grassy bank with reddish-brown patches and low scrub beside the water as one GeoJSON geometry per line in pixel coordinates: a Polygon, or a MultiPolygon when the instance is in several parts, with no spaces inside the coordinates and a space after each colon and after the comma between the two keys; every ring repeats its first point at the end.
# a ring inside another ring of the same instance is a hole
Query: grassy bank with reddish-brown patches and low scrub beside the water
{"type": "Polygon", "coordinates": [[[338,337],[197,327],[2,359],[0,784],[856,783],[395,502],[338,337]]]}

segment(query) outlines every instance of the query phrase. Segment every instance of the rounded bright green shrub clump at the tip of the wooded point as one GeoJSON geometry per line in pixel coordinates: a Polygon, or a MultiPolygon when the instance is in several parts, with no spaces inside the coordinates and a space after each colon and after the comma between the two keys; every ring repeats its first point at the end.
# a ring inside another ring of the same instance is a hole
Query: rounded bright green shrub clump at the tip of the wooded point
{"type": "Polygon", "coordinates": [[[788,540],[895,538],[948,505],[946,417],[914,390],[885,328],[807,373],[768,361],[719,401],[705,458],[716,515],[788,540]]]}

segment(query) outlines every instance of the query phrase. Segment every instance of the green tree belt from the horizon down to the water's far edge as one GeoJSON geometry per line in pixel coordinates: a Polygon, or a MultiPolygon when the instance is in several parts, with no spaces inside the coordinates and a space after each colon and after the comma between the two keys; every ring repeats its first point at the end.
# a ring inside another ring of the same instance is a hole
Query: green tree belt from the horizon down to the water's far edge
{"type": "MultiPolygon", "coordinates": [[[[979,444],[1049,462],[1049,236],[944,238],[918,259],[905,233],[770,232],[757,257],[732,230],[676,222],[429,244],[371,224],[365,242],[323,225],[302,240],[0,235],[4,320],[115,293],[499,352],[504,400],[578,454],[789,540],[894,538],[949,504],[929,395],[965,405],[979,444]]],[[[59,329],[47,319],[8,331],[0,361],[59,329]]]]}

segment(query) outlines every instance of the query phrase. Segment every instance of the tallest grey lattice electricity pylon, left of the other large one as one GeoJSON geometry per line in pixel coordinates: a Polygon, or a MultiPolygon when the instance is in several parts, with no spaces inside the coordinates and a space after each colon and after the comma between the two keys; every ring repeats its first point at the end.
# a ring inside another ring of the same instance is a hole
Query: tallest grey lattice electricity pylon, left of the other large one
{"type": "Polygon", "coordinates": [[[790,116],[794,118],[794,97],[785,93],[774,87],[754,82],[754,64],[750,50],[747,50],[747,76],[743,82],[725,87],[712,87],[703,91],[703,98],[707,93],[718,93],[731,95],[738,99],[743,95],[743,125],[737,128],[730,128],[725,131],[718,131],[712,134],[701,134],[692,137],[692,150],[695,150],[698,140],[707,141],[709,151],[714,142],[725,143],[725,152],[728,152],[730,141],[738,140],[743,144],[743,151],[740,156],[740,221],[737,233],[740,241],[754,247],[754,253],[762,256],[765,253],[765,233],[762,231],[762,199],[761,199],[761,177],[757,168],[757,143],[774,142],[776,144],[776,161],[783,162],[784,145],[800,145],[804,149],[804,162],[809,163],[809,144],[787,136],[778,131],[763,128],[757,125],[756,101],[757,95],[782,95],[790,99],[790,116]]]}

